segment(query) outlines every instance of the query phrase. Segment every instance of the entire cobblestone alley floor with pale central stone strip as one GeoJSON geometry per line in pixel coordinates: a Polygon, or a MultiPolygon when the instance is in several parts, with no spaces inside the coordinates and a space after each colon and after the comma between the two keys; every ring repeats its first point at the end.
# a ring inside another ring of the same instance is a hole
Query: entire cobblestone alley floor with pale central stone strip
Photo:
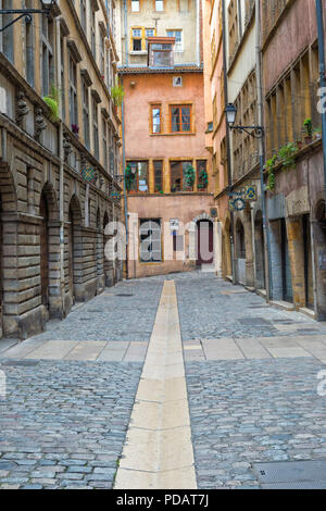
{"type": "Polygon", "coordinates": [[[253,463],[326,459],[325,325],[210,273],[121,283],[0,353],[1,489],[259,488],[253,463]]]}

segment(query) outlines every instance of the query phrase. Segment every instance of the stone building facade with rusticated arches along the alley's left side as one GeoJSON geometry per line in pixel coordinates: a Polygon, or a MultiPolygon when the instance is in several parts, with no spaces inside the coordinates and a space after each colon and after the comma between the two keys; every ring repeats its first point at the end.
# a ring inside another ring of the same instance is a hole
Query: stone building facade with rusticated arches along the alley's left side
{"type": "Polygon", "coordinates": [[[37,334],[121,278],[104,253],[122,217],[113,20],[113,0],[61,0],[0,36],[3,336],[37,334]]]}

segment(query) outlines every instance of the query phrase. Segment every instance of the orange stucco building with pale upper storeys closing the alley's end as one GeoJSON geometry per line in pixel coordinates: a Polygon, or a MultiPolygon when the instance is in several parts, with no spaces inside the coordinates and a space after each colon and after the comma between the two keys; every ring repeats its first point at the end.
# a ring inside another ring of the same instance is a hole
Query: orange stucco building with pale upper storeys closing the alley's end
{"type": "Polygon", "coordinates": [[[142,2],[138,14],[129,9],[127,29],[122,29],[125,37],[131,34],[131,40],[122,38],[120,68],[129,278],[191,271],[203,264],[214,270],[214,185],[205,147],[201,5],[168,3],[155,14],[155,28],[143,30],[153,3],[142,2]],[[183,9],[179,17],[178,9],[183,9]],[[145,42],[137,37],[148,32],[143,51],[145,42]],[[188,33],[192,34],[189,48],[188,33]]]}

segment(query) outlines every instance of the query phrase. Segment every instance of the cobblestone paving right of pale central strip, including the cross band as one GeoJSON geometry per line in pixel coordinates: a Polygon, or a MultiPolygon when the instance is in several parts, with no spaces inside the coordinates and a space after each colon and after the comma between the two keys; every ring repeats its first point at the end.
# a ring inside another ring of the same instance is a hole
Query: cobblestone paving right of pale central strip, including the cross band
{"type": "Polygon", "coordinates": [[[176,285],[199,488],[259,488],[254,462],[326,459],[326,398],[317,394],[325,365],[308,352],[290,358],[300,339],[312,352],[318,342],[315,354],[325,356],[325,326],[213,275],[176,285]],[[259,338],[279,358],[246,360],[259,338]],[[238,346],[242,360],[234,348],[225,357],[235,360],[208,360],[214,344],[238,346]]]}

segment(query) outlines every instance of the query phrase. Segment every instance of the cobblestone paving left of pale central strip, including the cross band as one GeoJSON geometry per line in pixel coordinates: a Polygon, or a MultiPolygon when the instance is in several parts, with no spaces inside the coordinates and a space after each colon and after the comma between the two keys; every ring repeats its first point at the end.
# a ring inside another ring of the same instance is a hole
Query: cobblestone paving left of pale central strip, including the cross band
{"type": "Polygon", "coordinates": [[[142,369],[126,360],[145,359],[162,285],[121,283],[39,336],[0,341],[0,489],[113,486],[142,369]],[[74,347],[89,361],[51,360],[74,347]]]}

